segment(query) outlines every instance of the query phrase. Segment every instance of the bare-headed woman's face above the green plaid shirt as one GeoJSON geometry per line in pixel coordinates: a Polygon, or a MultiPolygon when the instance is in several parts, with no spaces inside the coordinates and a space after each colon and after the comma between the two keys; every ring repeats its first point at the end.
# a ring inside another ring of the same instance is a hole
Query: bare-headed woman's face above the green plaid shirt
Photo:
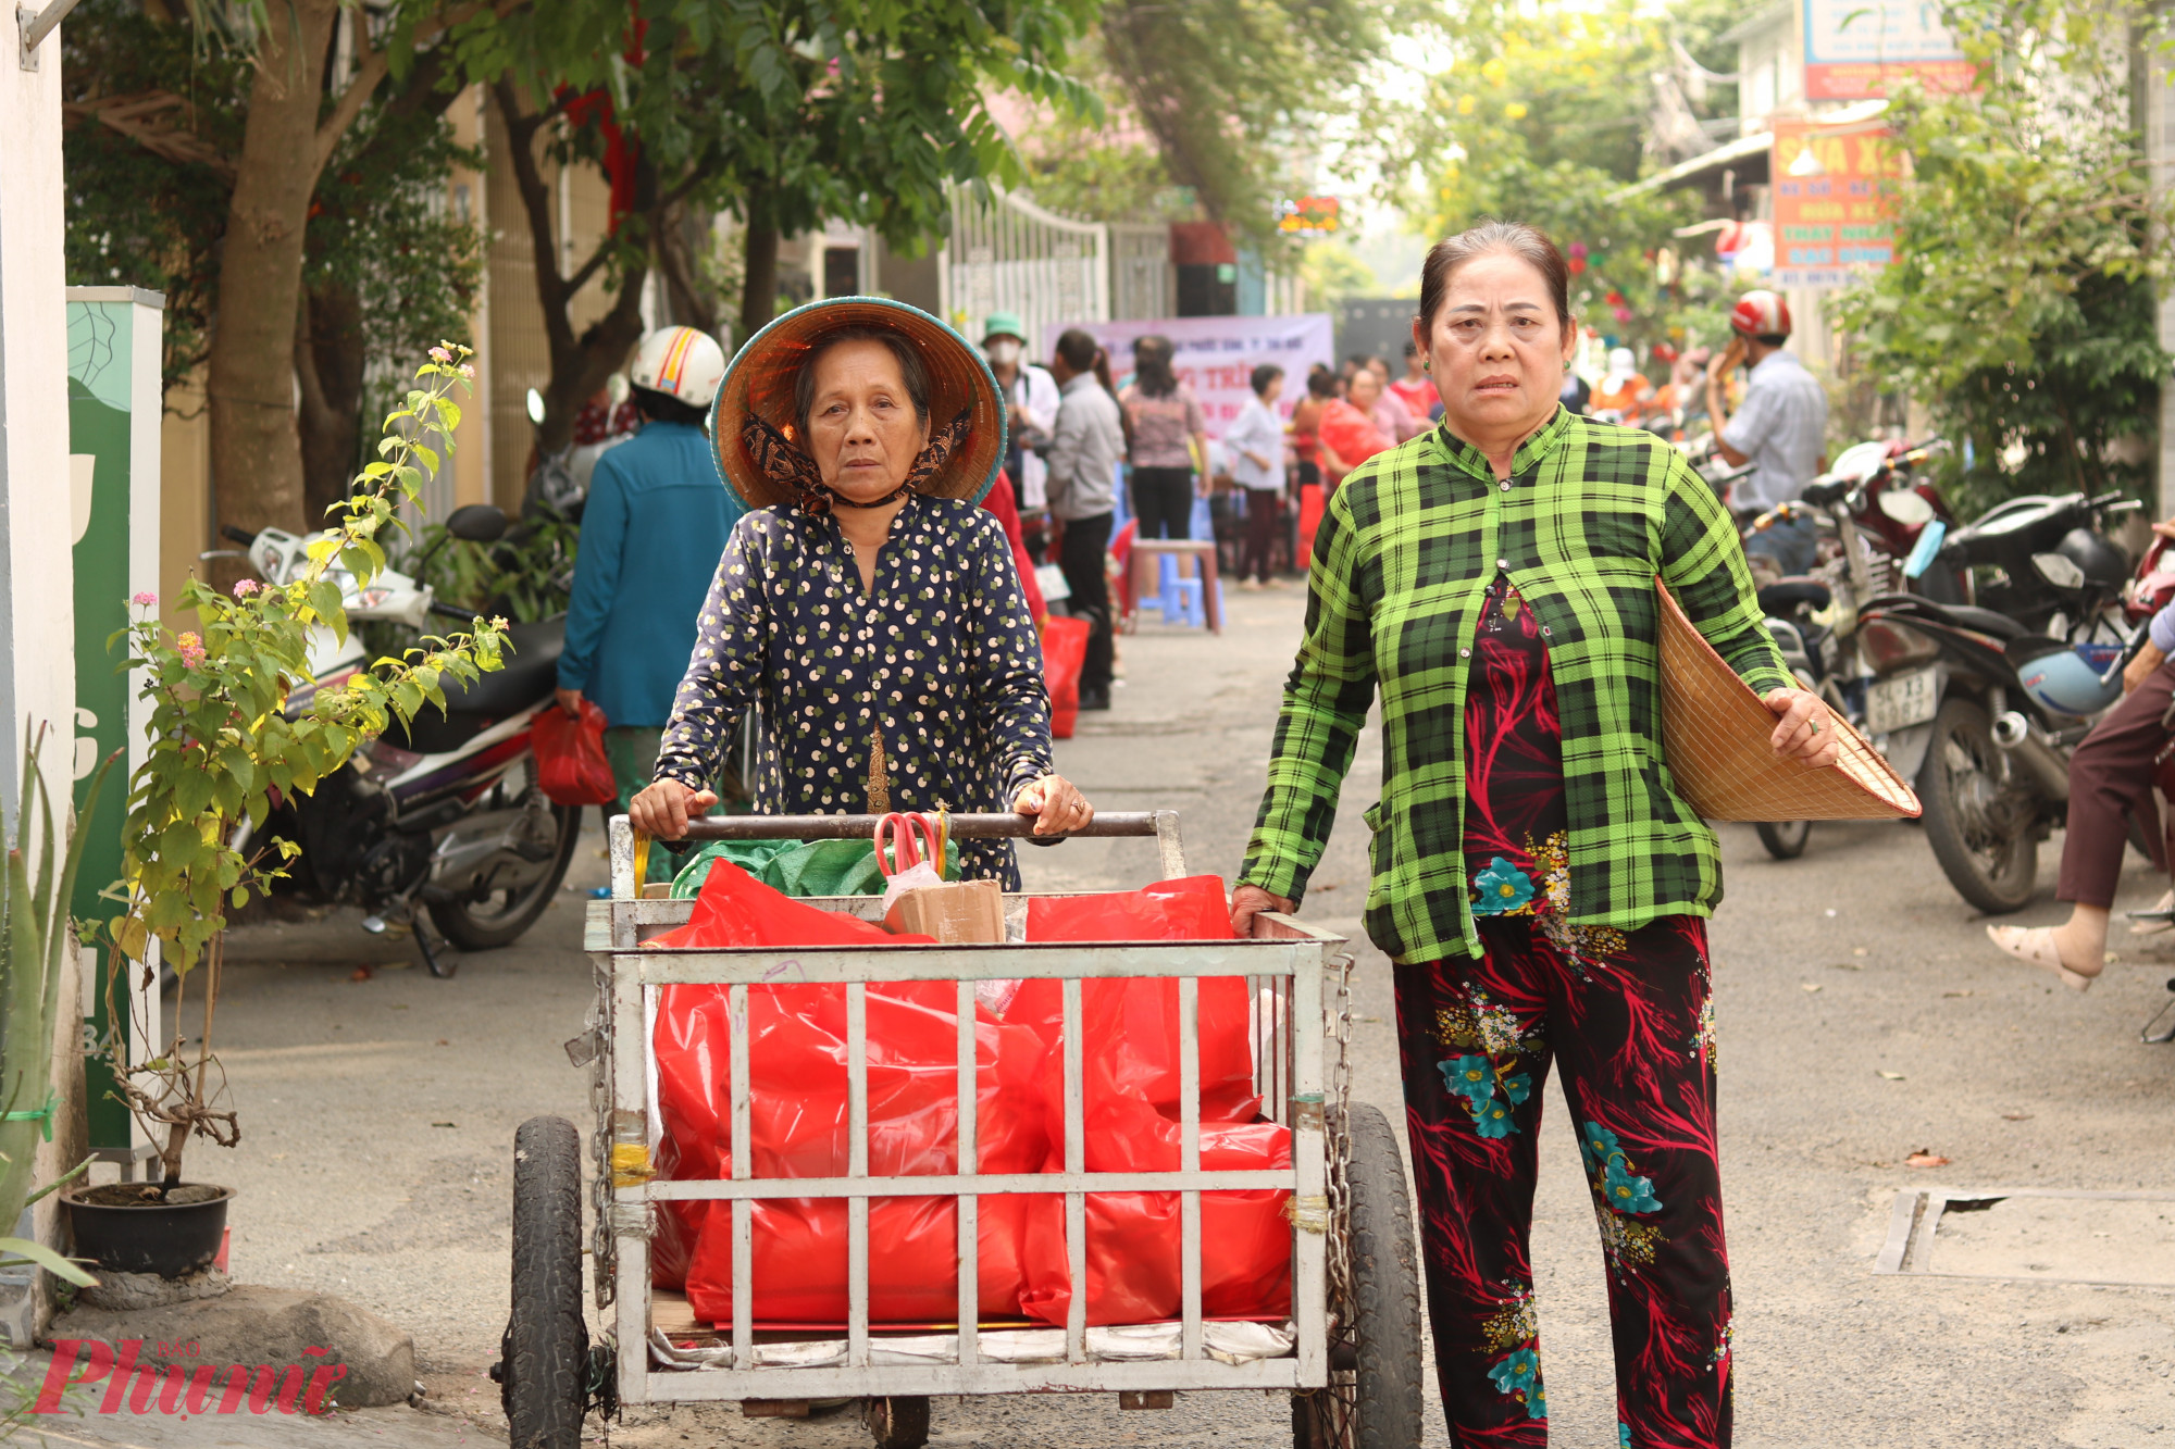
{"type": "Polygon", "coordinates": [[[1459,437],[1518,439],[1555,411],[1577,333],[1555,315],[1540,268],[1494,252],[1457,268],[1433,318],[1412,324],[1459,437]]]}

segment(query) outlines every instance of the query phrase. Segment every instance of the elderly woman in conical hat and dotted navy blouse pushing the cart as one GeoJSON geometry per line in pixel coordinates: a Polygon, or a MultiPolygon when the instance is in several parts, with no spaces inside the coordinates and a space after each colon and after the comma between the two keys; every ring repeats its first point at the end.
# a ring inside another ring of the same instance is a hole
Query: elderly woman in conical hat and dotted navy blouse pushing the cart
{"type": "MultiPolygon", "coordinates": [[[[711,442],[748,505],[718,561],[657,775],[631,818],[687,833],[748,709],[763,814],[1094,809],[1051,761],[1042,648],[996,518],[1005,455],[987,363],[883,298],[785,313],[718,387],[711,442]]],[[[968,879],[1018,888],[1007,840],[959,844],[968,879]]]]}

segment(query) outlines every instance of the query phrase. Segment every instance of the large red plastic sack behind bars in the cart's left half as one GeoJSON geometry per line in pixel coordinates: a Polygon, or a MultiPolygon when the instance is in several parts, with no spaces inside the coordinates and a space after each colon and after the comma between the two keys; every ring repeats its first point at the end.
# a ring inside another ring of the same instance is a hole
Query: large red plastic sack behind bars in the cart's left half
{"type": "MultiPolygon", "coordinates": [[[[959,1164],[957,988],[948,981],[868,988],[868,1171],[955,1173],[959,1164]]],[[[1007,1027],[977,1007],[974,1157],[983,1173],[1033,1173],[1046,1160],[1042,1114],[998,1079],[1007,1027]]],[[[1037,1042],[1020,1031],[1024,1055],[1037,1042]]],[[[726,988],[666,988],[657,1016],[659,1171],[726,1179],[731,1053],[726,988]]],[[[846,992],[770,986],[748,992],[748,1151],[755,1177],[844,1177],[846,992]]],[[[1020,1057],[1022,1053],[1014,1053],[1020,1057]]],[[[983,1316],[1020,1312],[1022,1223],[1016,1197],[981,1199],[977,1236],[983,1316]]],[[[868,1214],[870,1321],[950,1323],[959,1312],[959,1216],[948,1197],[874,1199],[868,1214]]],[[[766,1325],[846,1323],[846,1203],[763,1199],[755,1221],[753,1314],[766,1325]]],[[[733,1318],[733,1210],[670,1203],[652,1244],[652,1281],[685,1286],[696,1318],[733,1318]]]]}

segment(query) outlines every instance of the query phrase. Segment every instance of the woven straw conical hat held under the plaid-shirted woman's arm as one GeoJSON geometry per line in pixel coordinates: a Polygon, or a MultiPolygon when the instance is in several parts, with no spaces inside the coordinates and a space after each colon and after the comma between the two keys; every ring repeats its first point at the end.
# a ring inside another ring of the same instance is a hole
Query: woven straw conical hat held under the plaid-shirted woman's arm
{"type": "Polygon", "coordinates": [[[1775,714],[1714,653],[1662,581],[1662,751],[1677,792],[1707,820],[1894,820],[1918,796],[1881,753],[1827,711],[1836,764],[1777,759],[1775,714]]]}

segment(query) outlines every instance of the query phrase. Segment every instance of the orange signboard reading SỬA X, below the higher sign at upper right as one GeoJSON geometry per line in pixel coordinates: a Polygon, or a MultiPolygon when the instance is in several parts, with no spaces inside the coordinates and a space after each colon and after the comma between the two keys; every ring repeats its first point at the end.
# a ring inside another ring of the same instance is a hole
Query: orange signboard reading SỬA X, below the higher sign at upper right
{"type": "Polygon", "coordinates": [[[1894,261],[1888,187],[1901,168],[1894,135],[1855,126],[1775,124],[1777,287],[1847,287],[1894,261]]]}

